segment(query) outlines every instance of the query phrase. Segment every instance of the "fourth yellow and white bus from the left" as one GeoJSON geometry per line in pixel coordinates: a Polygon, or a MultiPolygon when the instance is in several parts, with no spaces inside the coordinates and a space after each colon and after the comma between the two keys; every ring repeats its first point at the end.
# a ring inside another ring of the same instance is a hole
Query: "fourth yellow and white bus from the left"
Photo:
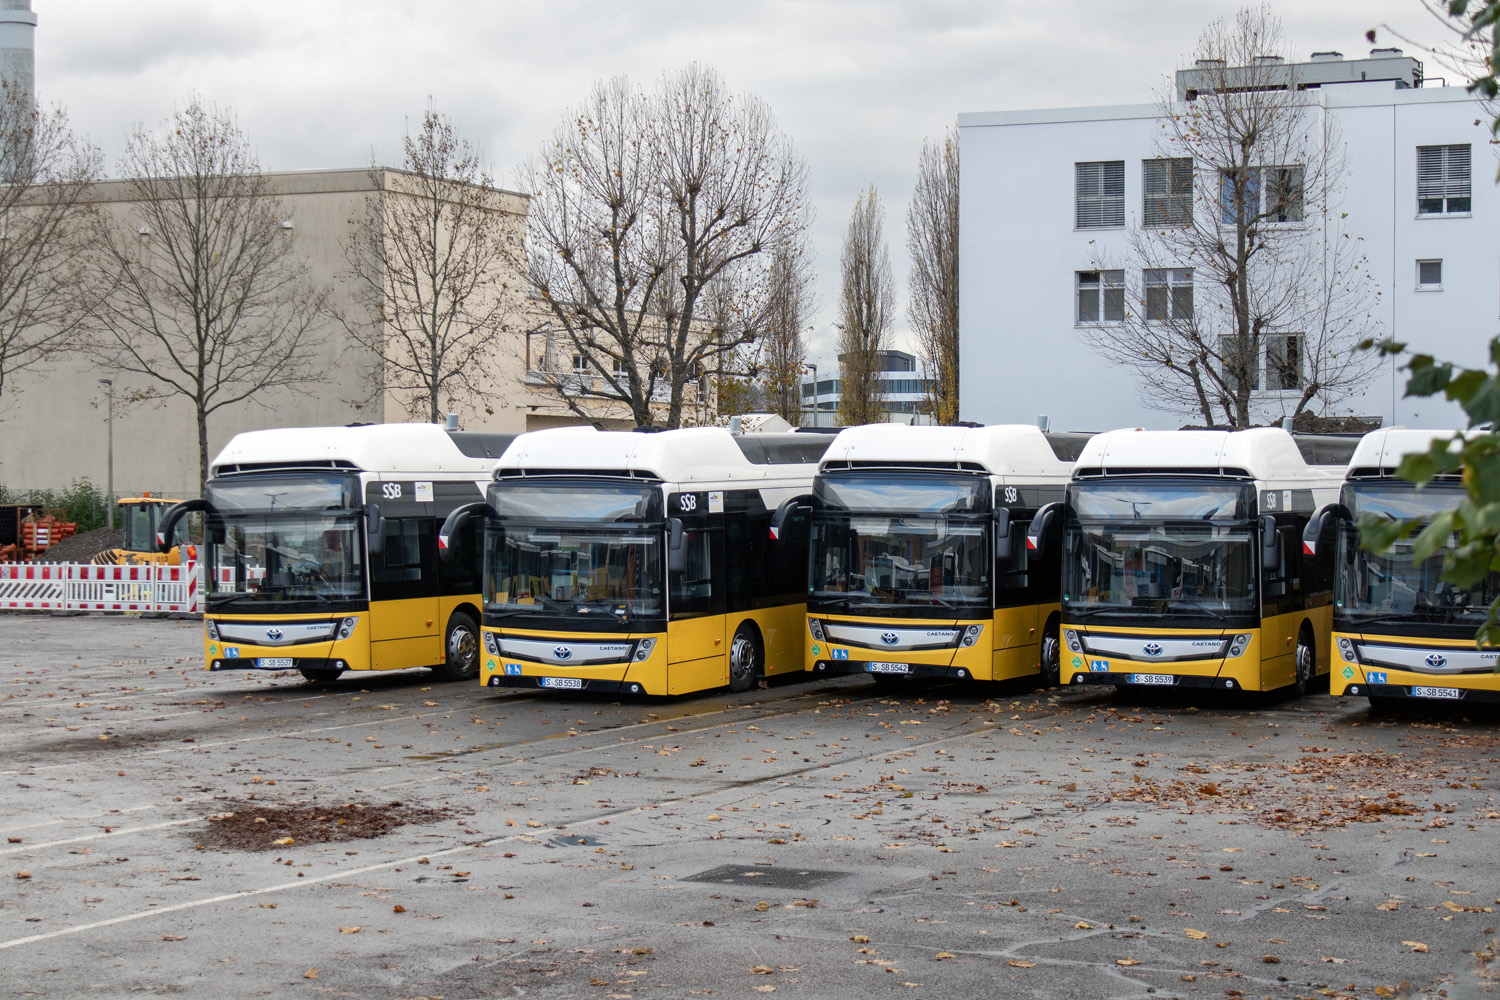
{"type": "Polygon", "coordinates": [[[1304,558],[1302,529],[1336,498],[1356,441],[1095,436],[1060,519],[1064,682],[1306,691],[1328,672],[1334,609],[1332,561],[1304,558]]]}

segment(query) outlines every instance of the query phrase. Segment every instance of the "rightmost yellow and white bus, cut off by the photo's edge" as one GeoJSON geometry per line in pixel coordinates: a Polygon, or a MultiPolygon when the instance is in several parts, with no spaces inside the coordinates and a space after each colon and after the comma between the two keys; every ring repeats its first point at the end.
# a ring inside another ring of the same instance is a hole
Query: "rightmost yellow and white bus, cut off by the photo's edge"
{"type": "Polygon", "coordinates": [[[1306,552],[1332,549],[1335,558],[1334,694],[1366,697],[1371,705],[1500,702],[1500,651],[1474,645],[1474,633],[1500,595],[1500,573],[1461,589],[1442,580],[1442,552],[1424,562],[1412,558],[1412,538],[1384,553],[1359,544],[1362,514],[1426,522],[1464,499],[1456,475],[1422,489],[1395,475],[1402,456],[1452,436],[1452,430],[1406,429],[1365,435],[1348,462],[1338,504],[1320,511],[1304,532],[1306,552]]]}

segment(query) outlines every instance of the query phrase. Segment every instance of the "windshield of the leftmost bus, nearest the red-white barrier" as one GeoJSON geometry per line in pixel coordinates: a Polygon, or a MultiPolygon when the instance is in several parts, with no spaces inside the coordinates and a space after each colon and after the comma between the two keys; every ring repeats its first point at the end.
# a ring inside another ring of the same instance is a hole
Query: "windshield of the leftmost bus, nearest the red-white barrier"
{"type": "Polygon", "coordinates": [[[210,520],[208,594],[243,601],[364,600],[357,514],[228,514],[210,520]]]}

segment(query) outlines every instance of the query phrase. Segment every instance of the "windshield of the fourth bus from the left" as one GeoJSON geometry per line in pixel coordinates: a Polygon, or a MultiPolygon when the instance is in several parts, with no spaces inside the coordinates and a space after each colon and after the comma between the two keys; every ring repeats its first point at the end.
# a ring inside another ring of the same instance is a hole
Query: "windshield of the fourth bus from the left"
{"type": "Polygon", "coordinates": [[[1096,481],[1068,487],[1062,603],[1076,615],[1258,613],[1250,486],[1096,481]]]}

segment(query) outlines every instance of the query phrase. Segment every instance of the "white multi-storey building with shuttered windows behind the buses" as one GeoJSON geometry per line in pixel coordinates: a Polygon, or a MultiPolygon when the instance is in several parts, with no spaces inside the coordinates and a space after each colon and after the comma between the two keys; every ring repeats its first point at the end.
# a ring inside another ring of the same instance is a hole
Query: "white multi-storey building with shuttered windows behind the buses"
{"type": "MultiPolygon", "coordinates": [[[[1338,210],[1364,238],[1378,285],[1374,324],[1414,351],[1484,366],[1500,330],[1500,189],[1488,115],[1462,87],[1424,87],[1420,63],[1400,49],[1359,60],[1318,52],[1286,69],[1346,147],[1338,210]]],[[[1196,96],[1194,72],[1178,73],[1179,99],[1196,96]]],[[[1090,430],[1202,423],[1148,406],[1154,387],[1112,367],[1083,336],[1112,322],[1112,282],[1142,298],[1142,270],[1101,273],[1096,261],[1128,258],[1128,235],[1148,210],[1143,178],[1170,163],[1154,144],[1158,106],[960,114],[958,127],[962,417],[1030,423],[1046,414],[1054,427],[1090,430]]],[[[1198,174],[1197,184],[1215,183],[1198,174]]],[[[1282,363],[1258,360],[1268,375],[1282,363]]],[[[1401,399],[1404,384],[1406,373],[1386,361],[1364,394],[1330,415],[1462,423],[1444,400],[1401,399]]],[[[1299,393],[1286,394],[1294,402],[1299,393]]],[[[1260,391],[1256,412],[1274,415],[1282,402],[1275,396],[1260,391]]]]}

